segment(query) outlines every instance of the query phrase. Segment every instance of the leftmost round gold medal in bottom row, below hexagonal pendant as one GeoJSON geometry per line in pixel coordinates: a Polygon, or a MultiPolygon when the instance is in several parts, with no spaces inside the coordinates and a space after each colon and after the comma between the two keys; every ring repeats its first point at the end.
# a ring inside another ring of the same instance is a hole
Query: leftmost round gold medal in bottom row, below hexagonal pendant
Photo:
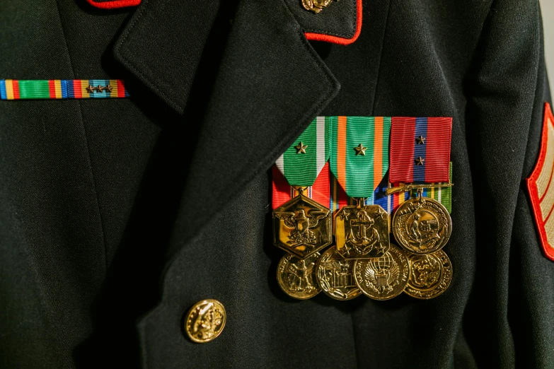
{"type": "Polygon", "coordinates": [[[286,254],[277,266],[277,281],[279,287],[292,298],[306,300],[320,293],[316,281],[316,262],[319,252],[311,254],[306,259],[299,259],[293,254],[286,254]]]}

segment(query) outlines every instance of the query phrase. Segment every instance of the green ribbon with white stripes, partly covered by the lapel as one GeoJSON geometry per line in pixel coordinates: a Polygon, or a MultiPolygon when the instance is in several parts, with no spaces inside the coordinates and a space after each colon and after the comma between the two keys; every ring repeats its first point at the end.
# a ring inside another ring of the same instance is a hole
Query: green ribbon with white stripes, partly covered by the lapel
{"type": "Polygon", "coordinates": [[[311,186],[329,159],[329,124],[317,117],[275,165],[292,186],[311,186]]]}

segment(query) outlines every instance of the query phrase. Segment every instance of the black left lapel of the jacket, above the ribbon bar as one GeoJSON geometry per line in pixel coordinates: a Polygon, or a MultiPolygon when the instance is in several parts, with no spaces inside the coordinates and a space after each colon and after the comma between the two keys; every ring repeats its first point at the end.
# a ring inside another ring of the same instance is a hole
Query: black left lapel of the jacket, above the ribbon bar
{"type": "Polygon", "coordinates": [[[146,0],[114,55],[144,86],[183,114],[219,0],[146,0]]]}

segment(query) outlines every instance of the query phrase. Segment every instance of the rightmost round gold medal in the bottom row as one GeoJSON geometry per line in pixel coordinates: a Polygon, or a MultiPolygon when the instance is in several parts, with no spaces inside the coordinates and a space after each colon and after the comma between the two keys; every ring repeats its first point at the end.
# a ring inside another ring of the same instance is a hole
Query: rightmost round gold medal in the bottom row
{"type": "Polygon", "coordinates": [[[435,298],[450,286],[452,264],[446,252],[439,250],[432,254],[412,254],[408,256],[408,262],[410,278],[404,292],[412,298],[435,298]]]}

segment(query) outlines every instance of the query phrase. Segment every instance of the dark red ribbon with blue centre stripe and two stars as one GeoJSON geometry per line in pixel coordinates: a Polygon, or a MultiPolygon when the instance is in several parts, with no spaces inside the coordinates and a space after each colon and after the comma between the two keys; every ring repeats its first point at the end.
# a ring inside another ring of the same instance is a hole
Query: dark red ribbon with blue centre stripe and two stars
{"type": "Polygon", "coordinates": [[[393,117],[391,183],[449,182],[452,118],[393,117]]]}

